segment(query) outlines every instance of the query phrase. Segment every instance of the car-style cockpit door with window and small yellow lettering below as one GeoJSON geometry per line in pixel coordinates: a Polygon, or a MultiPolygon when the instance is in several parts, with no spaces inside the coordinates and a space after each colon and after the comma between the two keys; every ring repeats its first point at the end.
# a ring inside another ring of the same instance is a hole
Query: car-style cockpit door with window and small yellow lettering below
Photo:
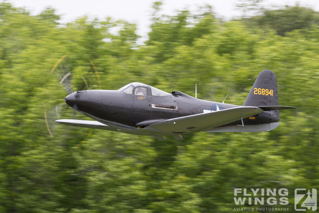
{"type": "Polygon", "coordinates": [[[133,109],[146,111],[149,106],[149,99],[147,87],[135,87],[133,91],[133,109]]]}

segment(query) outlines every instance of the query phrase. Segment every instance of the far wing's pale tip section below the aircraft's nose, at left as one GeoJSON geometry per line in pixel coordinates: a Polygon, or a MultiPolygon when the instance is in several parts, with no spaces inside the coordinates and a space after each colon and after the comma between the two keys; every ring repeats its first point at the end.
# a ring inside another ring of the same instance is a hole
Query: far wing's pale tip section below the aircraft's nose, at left
{"type": "Polygon", "coordinates": [[[109,130],[109,131],[117,131],[115,128],[110,127],[108,125],[102,124],[98,121],[89,121],[89,120],[74,120],[74,119],[60,119],[56,120],[56,122],[60,124],[66,124],[71,126],[83,126],[87,128],[93,128],[93,129],[103,129],[103,130],[109,130]]]}

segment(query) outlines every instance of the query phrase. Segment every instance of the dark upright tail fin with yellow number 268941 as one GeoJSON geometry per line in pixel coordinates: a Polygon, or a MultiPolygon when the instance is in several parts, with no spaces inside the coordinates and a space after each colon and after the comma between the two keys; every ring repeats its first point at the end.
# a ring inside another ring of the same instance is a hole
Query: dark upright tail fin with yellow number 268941
{"type": "Polygon", "coordinates": [[[259,73],[243,106],[278,106],[277,78],[271,70],[259,73]]]}

